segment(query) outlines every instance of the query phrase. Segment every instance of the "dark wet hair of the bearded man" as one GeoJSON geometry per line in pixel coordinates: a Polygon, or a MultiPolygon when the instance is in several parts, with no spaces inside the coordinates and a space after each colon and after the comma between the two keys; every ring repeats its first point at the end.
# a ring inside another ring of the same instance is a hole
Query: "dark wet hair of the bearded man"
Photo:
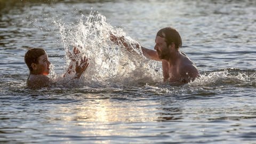
{"type": "Polygon", "coordinates": [[[165,38],[165,42],[167,46],[174,43],[175,49],[177,50],[182,46],[182,39],[180,37],[180,34],[174,28],[171,28],[171,27],[162,28],[157,32],[156,36],[165,38]]]}

